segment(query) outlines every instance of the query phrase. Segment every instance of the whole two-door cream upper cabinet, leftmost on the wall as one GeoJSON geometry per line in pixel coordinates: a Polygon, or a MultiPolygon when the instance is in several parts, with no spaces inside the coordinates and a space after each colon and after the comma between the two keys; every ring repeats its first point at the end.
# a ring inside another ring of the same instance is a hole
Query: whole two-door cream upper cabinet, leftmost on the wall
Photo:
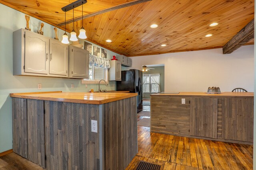
{"type": "Polygon", "coordinates": [[[67,47],[32,31],[14,31],[13,74],[68,77],[67,47]]]}

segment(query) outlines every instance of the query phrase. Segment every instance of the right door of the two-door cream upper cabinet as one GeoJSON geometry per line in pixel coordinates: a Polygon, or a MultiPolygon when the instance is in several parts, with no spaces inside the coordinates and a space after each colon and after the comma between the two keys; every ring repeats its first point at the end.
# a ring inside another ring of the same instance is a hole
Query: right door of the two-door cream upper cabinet
{"type": "Polygon", "coordinates": [[[68,76],[68,45],[50,39],[50,74],[68,76]]]}

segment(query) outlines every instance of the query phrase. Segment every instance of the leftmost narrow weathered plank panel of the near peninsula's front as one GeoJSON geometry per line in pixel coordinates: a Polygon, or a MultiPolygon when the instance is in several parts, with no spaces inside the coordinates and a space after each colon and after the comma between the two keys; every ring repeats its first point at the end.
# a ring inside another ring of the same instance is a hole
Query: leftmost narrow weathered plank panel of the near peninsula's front
{"type": "Polygon", "coordinates": [[[12,98],[12,149],[28,158],[27,100],[12,98]]]}

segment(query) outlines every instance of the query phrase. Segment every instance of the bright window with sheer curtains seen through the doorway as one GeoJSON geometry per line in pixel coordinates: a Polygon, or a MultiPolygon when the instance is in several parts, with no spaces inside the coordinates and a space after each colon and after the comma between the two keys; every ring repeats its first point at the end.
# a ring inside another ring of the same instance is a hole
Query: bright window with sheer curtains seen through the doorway
{"type": "Polygon", "coordinates": [[[161,92],[160,74],[143,74],[143,92],[161,92]]]}

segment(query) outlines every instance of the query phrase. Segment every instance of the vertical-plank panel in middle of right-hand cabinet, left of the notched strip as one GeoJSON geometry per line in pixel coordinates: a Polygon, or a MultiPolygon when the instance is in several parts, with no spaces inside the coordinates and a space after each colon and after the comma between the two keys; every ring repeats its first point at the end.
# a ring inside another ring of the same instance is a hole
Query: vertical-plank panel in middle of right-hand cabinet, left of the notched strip
{"type": "Polygon", "coordinates": [[[190,135],[217,138],[217,98],[191,98],[190,135]]]}

